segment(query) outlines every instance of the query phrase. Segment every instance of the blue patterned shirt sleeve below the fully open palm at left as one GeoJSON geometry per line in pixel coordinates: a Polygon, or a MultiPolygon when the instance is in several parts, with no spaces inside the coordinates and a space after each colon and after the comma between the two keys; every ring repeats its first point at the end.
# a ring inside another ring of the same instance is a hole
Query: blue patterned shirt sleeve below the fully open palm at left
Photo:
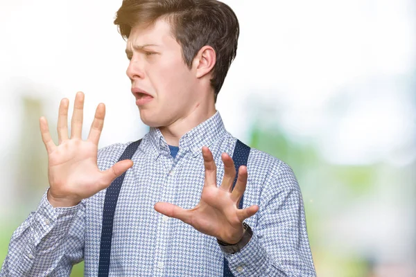
{"type": "Polygon", "coordinates": [[[0,277],[69,276],[72,265],[83,260],[85,200],[53,208],[46,194],[12,234],[0,277]]]}

